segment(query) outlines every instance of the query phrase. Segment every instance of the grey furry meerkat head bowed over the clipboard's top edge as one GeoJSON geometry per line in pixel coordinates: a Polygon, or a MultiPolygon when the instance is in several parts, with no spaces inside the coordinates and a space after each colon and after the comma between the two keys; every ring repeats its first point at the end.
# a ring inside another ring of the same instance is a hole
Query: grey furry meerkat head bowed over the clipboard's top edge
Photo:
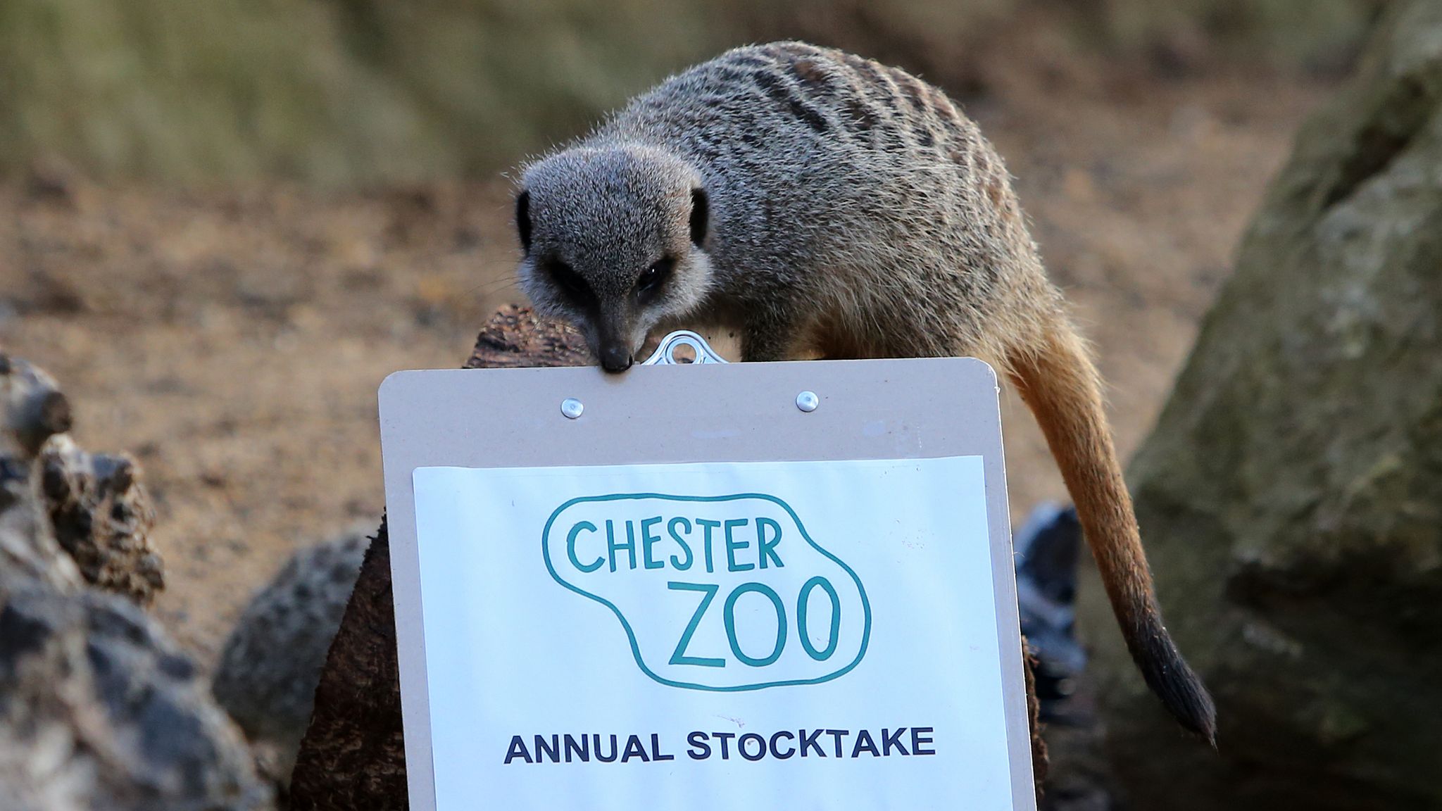
{"type": "Polygon", "coordinates": [[[701,176],[681,159],[636,144],[568,149],[522,176],[521,284],[620,372],[658,322],[705,297],[708,225],[701,176]]]}

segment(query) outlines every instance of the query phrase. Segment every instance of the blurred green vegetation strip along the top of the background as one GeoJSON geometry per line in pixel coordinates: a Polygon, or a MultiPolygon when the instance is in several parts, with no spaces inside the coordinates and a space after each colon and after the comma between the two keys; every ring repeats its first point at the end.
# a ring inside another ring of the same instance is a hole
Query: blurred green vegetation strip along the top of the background
{"type": "Polygon", "coordinates": [[[805,38],[986,91],[976,46],[1335,72],[1379,0],[6,0],[0,172],[330,188],[487,173],[725,46],[805,38]]]}

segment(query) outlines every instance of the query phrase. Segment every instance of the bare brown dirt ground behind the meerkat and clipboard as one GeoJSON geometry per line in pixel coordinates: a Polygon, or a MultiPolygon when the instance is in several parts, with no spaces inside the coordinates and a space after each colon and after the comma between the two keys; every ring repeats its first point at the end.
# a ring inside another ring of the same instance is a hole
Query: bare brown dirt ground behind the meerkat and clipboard
{"type": "MultiPolygon", "coordinates": [[[[966,105],[1096,342],[1123,455],[1327,89],[1242,74],[1040,58],[966,105]]],[[[144,465],[169,576],[157,610],[202,662],[291,550],[375,525],[376,385],[459,365],[518,300],[509,208],[503,179],[346,195],[0,182],[0,343],[62,381],[79,442],[144,465]]],[[[1063,489],[1004,397],[1019,514],[1063,489]]]]}

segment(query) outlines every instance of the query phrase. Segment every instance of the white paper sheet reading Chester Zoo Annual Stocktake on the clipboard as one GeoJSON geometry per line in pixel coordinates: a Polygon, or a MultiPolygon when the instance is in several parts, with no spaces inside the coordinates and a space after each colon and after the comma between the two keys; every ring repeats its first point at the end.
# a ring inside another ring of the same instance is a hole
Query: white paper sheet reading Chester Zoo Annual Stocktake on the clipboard
{"type": "Polygon", "coordinates": [[[1019,807],[981,456],[411,483],[435,808],[1019,807]]]}

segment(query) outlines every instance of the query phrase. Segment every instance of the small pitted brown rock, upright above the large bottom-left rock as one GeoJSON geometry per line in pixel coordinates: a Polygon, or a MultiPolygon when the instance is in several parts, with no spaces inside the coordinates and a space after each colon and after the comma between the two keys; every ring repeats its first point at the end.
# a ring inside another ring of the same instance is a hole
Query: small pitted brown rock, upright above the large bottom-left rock
{"type": "Polygon", "coordinates": [[[164,564],[150,544],[156,511],[128,456],[87,453],[69,436],[40,449],[40,492],[55,538],[87,583],[154,602],[164,589],[164,564]]]}

